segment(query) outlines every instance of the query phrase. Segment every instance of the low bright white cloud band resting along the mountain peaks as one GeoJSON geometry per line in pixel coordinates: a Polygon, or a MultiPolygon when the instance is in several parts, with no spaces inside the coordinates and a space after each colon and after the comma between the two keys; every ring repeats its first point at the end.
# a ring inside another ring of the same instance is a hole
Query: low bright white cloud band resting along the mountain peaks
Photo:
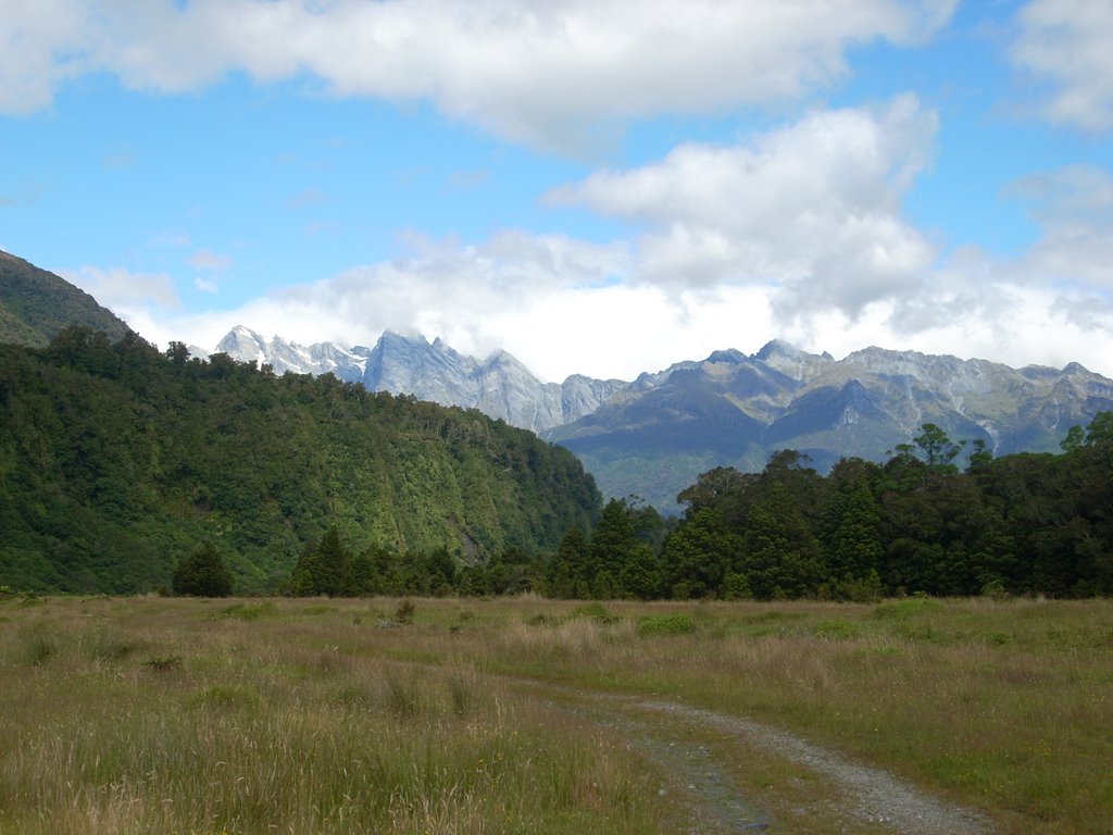
{"type": "Polygon", "coordinates": [[[475,356],[503,347],[555,381],[572,373],[631,380],[718,348],[752,353],[774,337],[836,356],[879,345],[1015,366],[1081,360],[1113,375],[1110,306],[1024,284],[976,252],[933,275],[920,307],[877,301],[854,320],[827,308],[785,321],[770,286],[608,282],[612,268],[622,268],[619,250],[518,237],[510,247],[442,242],[435,253],[355,268],[234,311],[181,315],[148,306],[131,308],[125,318],[159,344],[178,340],[207,348],[236,324],[306,344],[368,344],[388,328],[418,332],[475,356]],[[502,257],[492,257],[500,249],[502,257]],[[570,268],[577,261],[580,271],[570,268]],[[910,311],[930,315],[910,321],[910,311]]]}

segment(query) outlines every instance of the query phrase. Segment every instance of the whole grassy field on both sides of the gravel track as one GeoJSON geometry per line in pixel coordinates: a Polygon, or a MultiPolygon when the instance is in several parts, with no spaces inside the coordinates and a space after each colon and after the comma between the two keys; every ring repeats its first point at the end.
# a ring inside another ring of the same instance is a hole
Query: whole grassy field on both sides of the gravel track
{"type": "MultiPolygon", "coordinates": [[[[0,602],[0,832],[687,831],[667,765],[559,704],[591,691],[790,730],[1003,833],[1113,833],[1113,601],[400,608],[0,602]]],[[[833,831],[799,814],[823,779],[699,741],[770,831],[833,831]]]]}

